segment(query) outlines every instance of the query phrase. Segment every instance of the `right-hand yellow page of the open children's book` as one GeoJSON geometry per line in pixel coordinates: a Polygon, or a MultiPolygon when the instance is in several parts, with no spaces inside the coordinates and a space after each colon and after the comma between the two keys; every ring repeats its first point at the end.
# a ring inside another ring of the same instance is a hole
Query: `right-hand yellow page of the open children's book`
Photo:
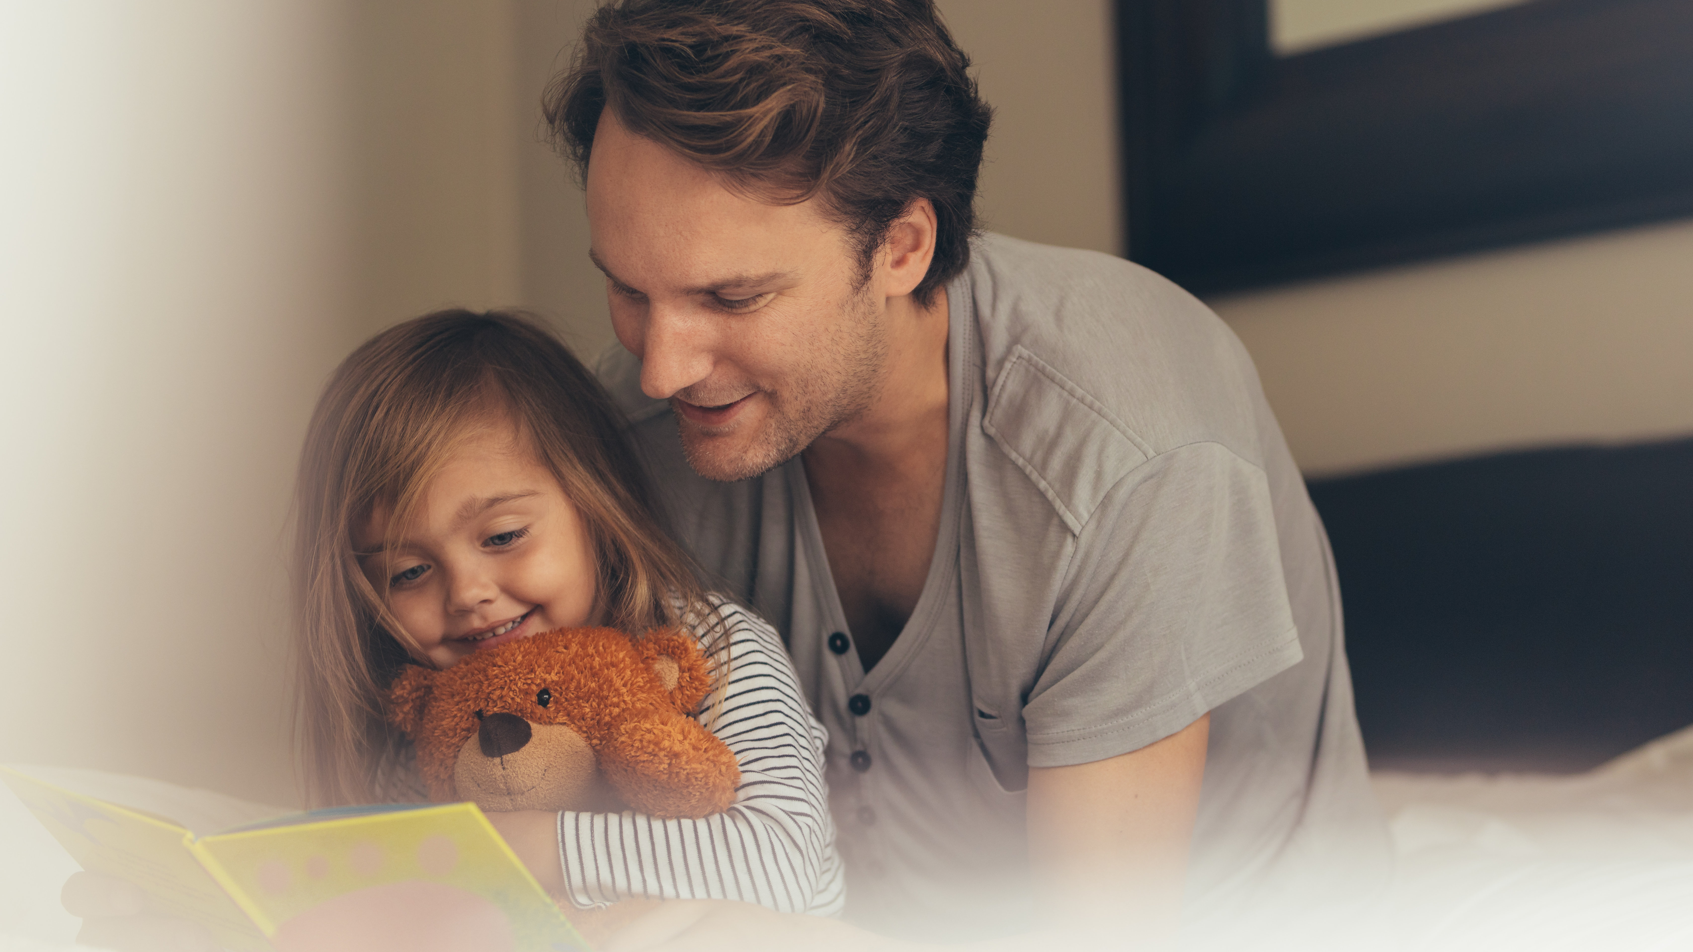
{"type": "Polygon", "coordinates": [[[587,949],[472,803],[217,833],[195,850],[283,952],[587,949]]]}

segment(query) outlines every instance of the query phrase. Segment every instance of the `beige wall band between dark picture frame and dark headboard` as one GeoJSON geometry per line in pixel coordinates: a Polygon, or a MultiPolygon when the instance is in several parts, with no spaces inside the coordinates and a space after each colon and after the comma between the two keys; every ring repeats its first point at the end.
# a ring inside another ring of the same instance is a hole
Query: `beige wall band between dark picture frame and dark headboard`
{"type": "Polygon", "coordinates": [[[1693,434],[1693,222],[1212,303],[1310,474],[1693,434]]]}

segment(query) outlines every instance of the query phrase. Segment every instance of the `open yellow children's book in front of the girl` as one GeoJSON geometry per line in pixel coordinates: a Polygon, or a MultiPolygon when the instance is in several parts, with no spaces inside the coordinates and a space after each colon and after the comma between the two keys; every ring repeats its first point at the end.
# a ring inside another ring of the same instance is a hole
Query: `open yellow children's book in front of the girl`
{"type": "Polygon", "coordinates": [[[152,911],[225,949],[420,945],[577,952],[587,944],[474,803],[315,810],[212,835],[0,767],[83,869],[139,886],[152,911]]]}

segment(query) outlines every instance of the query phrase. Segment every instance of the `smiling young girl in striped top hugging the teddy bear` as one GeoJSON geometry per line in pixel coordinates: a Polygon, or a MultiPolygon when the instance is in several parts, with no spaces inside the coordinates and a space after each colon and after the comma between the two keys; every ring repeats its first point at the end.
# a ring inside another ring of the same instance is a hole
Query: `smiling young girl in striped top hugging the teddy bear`
{"type": "Polygon", "coordinates": [[[510,313],[432,313],[335,371],[300,461],[301,754],[313,805],[420,800],[383,688],[560,627],[684,627],[716,659],[699,718],[740,761],[704,820],[493,815],[577,908],[726,898],[835,913],[823,727],[775,632],[708,595],[664,535],[599,383],[510,313]]]}

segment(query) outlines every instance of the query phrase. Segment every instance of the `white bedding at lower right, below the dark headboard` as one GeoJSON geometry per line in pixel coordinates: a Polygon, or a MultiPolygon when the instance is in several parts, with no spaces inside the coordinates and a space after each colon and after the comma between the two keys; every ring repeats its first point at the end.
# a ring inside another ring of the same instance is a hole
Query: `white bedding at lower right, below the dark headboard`
{"type": "Polygon", "coordinates": [[[1398,876],[1365,949],[1693,950],[1693,728],[1578,776],[1375,788],[1398,876]]]}

